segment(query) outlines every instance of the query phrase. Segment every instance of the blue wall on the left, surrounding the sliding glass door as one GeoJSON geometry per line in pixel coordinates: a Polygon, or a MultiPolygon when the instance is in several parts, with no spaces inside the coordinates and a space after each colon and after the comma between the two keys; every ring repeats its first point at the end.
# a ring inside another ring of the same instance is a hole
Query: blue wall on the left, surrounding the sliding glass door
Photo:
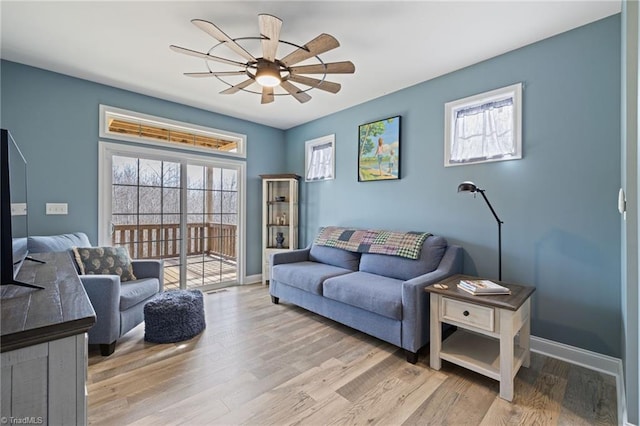
{"type": "Polygon", "coordinates": [[[98,108],[104,104],[247,135],[246,273],[261,273],[259,174],[285,168],[282,130],[14,62],[0,66],[0,124],[29,165],[30,234],[84,231],[97,242],[98,108]],[[69,214],[45,215],[46,202],[68,203],[69,214]]]}

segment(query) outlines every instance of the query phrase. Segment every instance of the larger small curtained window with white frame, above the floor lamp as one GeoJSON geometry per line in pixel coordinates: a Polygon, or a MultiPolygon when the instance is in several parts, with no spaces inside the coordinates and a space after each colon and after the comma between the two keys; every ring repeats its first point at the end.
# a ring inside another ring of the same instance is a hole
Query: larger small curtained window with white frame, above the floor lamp
{"type": "Polygon", "coordinates": [[[522,158],[522,83],[445,104],[445,167],[522,158]]]}

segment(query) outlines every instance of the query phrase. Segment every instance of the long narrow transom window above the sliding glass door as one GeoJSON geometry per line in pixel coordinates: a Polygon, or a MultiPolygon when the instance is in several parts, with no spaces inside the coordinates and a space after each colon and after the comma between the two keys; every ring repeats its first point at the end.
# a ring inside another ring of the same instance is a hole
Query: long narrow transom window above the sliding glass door
{"type": "Polygon", "coordinates": [[[246,157],[246,136],[100,105],[100,136],[246,157]]]}

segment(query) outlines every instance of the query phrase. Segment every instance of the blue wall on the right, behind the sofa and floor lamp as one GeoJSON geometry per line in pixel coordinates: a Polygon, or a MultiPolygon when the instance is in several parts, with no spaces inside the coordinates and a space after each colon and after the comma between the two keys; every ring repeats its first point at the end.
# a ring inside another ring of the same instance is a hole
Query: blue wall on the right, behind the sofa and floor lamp
{"type": "MultiPolygon", "coordinates": [[[[358,72],[366,72],[359,70],[358,72]]],[[[286,132],[287,171],[304,142],[336,135],[336,179],[303,184],[301,243],[320,226],[424,230],[465,248],[465,272],[536,287],[532,333],[619,357],[620,16],[563,33],[286,132]],[[524,83],[523,159],[443,166],[445,102],[524,83]],[[359,124],[402,116],[402,178],[357,181],[359,124]]]]}

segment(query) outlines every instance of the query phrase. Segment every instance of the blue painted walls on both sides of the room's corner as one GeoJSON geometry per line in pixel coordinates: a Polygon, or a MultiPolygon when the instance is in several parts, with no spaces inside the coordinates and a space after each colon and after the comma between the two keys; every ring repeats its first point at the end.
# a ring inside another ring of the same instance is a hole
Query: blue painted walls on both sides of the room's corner
{"type": "MultiPolygon", "coordinates": [[[[30,231],[97,236],[98,105],[248,135],[247,269],[261,270],[259,174],[304,174],[304,142],[336,134],[336,179],[303,184],[301,243],[335,224],[426,230],[464,246],[465,272],[534,285],[532,333],[620,357],[620,16],[578,28],[286,132],[11,62],[1,125],[29,160],[30,231]],[[443,167],[444,103],[521,81],[517,161],[443,167]],[[357,181],[357,127],[402,116],[402,179],[357,181]],[[68,202],[68,216],[44,215],[68,202]]],[[[360,70],[358,72],[366,72],[360,70]]]]}

